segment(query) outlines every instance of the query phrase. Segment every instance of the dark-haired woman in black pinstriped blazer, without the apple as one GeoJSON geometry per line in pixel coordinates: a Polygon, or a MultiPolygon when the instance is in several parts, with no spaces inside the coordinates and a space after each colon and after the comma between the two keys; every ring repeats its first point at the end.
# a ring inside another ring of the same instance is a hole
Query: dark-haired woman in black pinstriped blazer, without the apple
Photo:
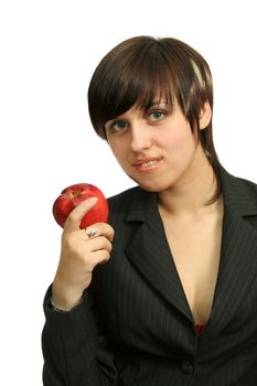
{"type": "Polygon", "coordinates": [[[257,186],[212,137],[212,75],[174,39],[136,36],[98,64],[97,135],[137,186],[108,224],[68,216],[44,310],[44,385],[257,384],[257,186]]]}

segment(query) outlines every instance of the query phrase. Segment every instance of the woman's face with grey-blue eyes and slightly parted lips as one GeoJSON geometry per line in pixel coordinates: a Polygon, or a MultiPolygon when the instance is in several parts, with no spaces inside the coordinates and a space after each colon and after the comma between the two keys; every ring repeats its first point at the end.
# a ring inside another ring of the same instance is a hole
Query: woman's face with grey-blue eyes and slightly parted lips
{"type": "Polygon", "coordinates": [[[148,110],[132,107],[105,129],[120,167],[147,191],[184,183],[200,170],[202,147],[178,105],[172,110],[164,101],[148,110]]]}

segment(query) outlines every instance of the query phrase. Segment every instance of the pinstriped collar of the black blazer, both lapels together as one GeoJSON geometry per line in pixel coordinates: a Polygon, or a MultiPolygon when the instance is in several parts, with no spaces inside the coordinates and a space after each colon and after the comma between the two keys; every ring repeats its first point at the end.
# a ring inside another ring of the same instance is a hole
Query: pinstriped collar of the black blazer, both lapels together
{"type": "MultiPolygon", "coordinates": [[[[224,169],[221,173],[225,215],[219,271],[207,329],[213,333],[228,322],[257,275],[257,230],[245,219],[257,216],[257,192],[250,193],[247,182],[224,169]]],[[[158,211],[157,194],[138,187],[127,222],[140,223],[126,247],[127,258],[163,299],[193,322],[158,211]]]]}

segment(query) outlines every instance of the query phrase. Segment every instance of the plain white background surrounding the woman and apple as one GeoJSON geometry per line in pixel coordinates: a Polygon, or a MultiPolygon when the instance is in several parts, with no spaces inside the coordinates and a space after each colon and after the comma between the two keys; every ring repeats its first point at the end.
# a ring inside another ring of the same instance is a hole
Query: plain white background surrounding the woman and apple
{"type": "Polygon", "coordinates": [[[214,77],[222,163],[257,181],[255,1],[3,0],[0,3],[0,384],[42,385],[42,301],[58,260],[52,203],[75,182],[132,185],[93,131],[86,93],[124,39],[184,40],[214,77]],[[4,379],[4,380],[3,380],[4,379]]]}

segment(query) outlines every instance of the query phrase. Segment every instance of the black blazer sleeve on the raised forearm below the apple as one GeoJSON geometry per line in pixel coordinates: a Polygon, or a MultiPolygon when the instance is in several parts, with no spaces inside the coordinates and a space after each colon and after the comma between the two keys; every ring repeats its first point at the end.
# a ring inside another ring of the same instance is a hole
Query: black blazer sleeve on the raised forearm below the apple
{"type": "Polygon", "coordinates": [[[50,307],[51,289],[44,299],[43,385],[117,385],[114,354],[89,292],[72,311],[56,312],[50,307]]]}

